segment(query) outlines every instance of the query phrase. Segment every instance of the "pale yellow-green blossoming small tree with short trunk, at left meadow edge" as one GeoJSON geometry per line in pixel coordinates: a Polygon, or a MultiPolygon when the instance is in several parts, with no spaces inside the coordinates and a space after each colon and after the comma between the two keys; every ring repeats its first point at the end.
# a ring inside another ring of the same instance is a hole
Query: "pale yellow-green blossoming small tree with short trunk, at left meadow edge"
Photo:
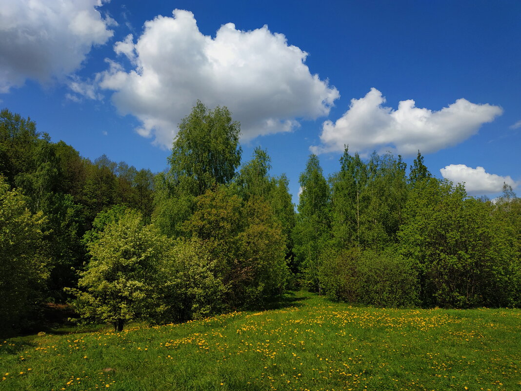
{"type": "Polygon", "coordinates": [[[121,329],[127,321],[158,311],[159,265],[170,245],[139,212],[127,211],[106,225],[89,243],[91,261],[78,280],[75,305],[82,317],[110,322],[121,329]]]}

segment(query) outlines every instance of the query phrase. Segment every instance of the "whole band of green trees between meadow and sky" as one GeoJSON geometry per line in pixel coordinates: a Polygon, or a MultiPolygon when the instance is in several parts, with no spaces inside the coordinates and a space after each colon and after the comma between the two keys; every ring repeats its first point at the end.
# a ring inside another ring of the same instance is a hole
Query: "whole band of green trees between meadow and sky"
{"type": "Polygon", "coordinates": [[[240,125],[198,102],[153,174],[52,142],[0,113],[0,336],[49,303],[78,321],[182,322],[263,308],[286,289],[377,307],[521,306],[521,200],[433,177],[418,156],[309,156],[299,205],[240,125]]]}

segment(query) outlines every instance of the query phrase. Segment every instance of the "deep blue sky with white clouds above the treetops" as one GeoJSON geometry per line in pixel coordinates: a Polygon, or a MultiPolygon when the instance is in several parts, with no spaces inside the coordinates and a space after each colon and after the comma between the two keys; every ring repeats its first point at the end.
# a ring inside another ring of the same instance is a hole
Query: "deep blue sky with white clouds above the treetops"
{"type": "Polygon", "coordinates": [[[200,99],[231,109],[243,161],[266,148],[295,202],[309,153],[328,175],[343,144],[420,149],[476,196],[521,184],[518,1],[0,6],[0,107],[84,157],[163,170],[200,99]]]}

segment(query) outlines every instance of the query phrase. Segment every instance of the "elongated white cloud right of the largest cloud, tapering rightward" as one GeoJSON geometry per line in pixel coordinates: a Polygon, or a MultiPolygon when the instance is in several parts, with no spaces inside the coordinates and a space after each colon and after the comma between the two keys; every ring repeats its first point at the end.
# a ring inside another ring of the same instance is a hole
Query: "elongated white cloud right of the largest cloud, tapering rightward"
{"type": "Polygon", "coordinates": [[[375,88],[360,99],[352,99],[349,110],[335,123],[322,124],[321,145],[314,153],[390,150],[403,155],[436,152],[466,140],[482,124],[491,122],[503,110],[490,104],[458,99],[439,111],[415,106],[413,100],[401,101],[398,109],[383,106],[382,93],[375,88]]]}

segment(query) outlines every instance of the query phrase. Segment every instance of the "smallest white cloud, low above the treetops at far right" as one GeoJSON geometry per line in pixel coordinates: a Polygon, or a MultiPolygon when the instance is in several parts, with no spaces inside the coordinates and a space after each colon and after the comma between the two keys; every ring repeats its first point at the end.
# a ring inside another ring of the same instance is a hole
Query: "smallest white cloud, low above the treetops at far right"
{"type": "Polygon", "coordinates": [[[503,183],[515,188],[517,183],[510,177],[502,177],[496,174],[489,174],[483,167],[467,167],[465,164],[450,164],[440,169],[440,173],[445,179],[449,179],[454,184],[465,183],[465,189],[469,194],[497,193],[502,190],[503,183]]]}

